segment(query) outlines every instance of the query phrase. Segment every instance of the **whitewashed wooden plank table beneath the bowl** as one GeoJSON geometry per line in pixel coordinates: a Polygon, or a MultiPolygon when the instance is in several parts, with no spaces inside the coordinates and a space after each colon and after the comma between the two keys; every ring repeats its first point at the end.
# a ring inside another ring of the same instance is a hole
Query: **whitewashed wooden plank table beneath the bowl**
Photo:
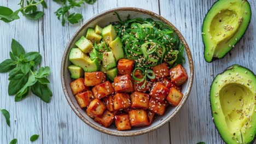
{"type": "MultiPolygon", "coordinates": [[[[12,38],[18,40],[26,51],[39,51],[43,56],[41,65],[48,65],[52,70],[49,79],[53,91],[49,104],[33,94],[15,103],[14,97],[8,96],[8,74],[0,74],[0,109],[9,110],[11,116],[11,127],[0,117],[0,143],[9,143],[14,138],[18,143],[30,143],[33,134],[40,135],[34,143],[224,143],[212,121],[209,89],[214,76],[232,64],[240,64],[256,72],[256,1],[249,2],[253,15],[248,31],[230,55],[212,63],[206,63],[203,58],[201,26],[214,0],[97,0],[94,5],[86,4],[77,9],[84,15],[82,22],[65,27],[54,14],[60,5],[46,0],[48,9],[44,10],[45,16],[39,21],[21,16],[11,23],[0,22],[0,61],[9,58],[12,38]],[[117,7],[144,8],[164,16],[187,39],[194,59],[194,86],[185,106],[170,123],[141,136],[116,137],[90,128],[71,110],[61,88],[60,64],[69,38],[90,17],[117,7]]],[[[8,5],[12,9],[18,9],[18,3],[0,1],[0,5],[8,5]]]]}

